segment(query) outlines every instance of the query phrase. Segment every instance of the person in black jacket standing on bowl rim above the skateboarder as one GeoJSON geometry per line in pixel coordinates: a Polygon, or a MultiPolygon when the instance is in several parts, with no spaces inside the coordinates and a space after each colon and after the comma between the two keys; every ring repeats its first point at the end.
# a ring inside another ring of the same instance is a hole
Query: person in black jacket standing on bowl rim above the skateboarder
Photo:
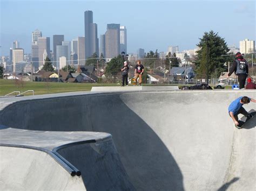
{"type": "Polygon", "coordinates": [[[230,73],[228,73],[228,77],[231,76],[233,72],[235,72],[235,75],[238,76],[239,88],[245,89],[245,81],[248,75],[248,65],[247,61],[244,59],[240,52],[235,54],[235,60],[233,62],[230,73]]]}

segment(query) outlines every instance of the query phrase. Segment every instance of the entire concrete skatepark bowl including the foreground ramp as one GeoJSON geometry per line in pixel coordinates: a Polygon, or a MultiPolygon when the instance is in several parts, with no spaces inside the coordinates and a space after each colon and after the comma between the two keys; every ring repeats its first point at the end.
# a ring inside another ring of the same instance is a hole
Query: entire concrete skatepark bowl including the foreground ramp
{"type": "Polygon", "coordinates": [[[235,129],[227,112],[244,95],[256,98],[162,89],[1,98],[0,188],[256,190],[256,118],[235,129]]]}

